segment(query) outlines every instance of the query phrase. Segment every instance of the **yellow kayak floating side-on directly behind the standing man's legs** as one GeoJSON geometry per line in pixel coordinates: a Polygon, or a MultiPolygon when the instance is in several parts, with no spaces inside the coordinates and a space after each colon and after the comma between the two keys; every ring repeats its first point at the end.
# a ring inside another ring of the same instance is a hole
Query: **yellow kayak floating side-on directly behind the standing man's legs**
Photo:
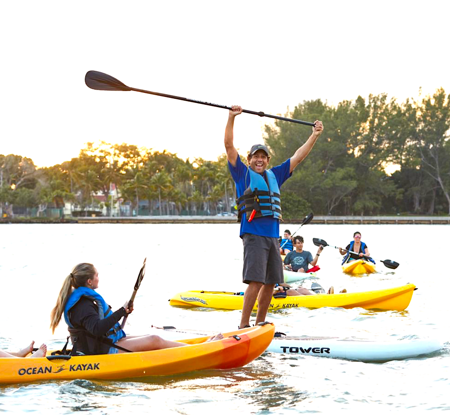
{"type": "MultiPolygon", "coordinates": [[[[363,307],[382,310],[405,310],[409,306],[414,284],[401,287],[363,291],[360,293],[293,295],[286,298],[272,298],[269,310],[292,307],[363,307]]],[[[224,310],[242,310],[243,295],[225,291],[185,291],[175,294],[169,301],[171,306],[210,307],[224,310]]],[[[255,302],[253,310],[257,310],[255,302]]]]}

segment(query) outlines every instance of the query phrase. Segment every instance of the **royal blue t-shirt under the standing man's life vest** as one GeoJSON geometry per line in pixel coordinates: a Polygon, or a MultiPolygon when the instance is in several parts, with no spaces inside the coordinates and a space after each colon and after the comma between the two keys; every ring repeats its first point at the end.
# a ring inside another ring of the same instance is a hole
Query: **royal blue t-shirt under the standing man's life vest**
{"type": "MultiPolygon", "coordinates": [[[[238,198],[244,194],[244,191],[250,185],[250,174],[247,173],[247,166],[241,161],[239,154],[236,160],[236,167],[233,167],[228,162],[229,171],[236,183],[236,191],[238,198]]],[[[278,187],[292,175],[289,173],[291,168],[291,159],[288,158],[284,163],[279,166],[272,167],[270,170],[274,173],[278,183],[278,187]]],[[[281,198],[281,204],[283,205],[283,198],[281,198]]],[[[283,207],[282,207],[283,209],[283,207]]],[[[253,219],[251,222],[247,221],[245,214],[241,217],[241,231],[239,236],[242,238],[243,234],[253,234],[260,236],[269,236],[271,238],[278,238],[279,235],[279,219],[275,219],[272,216],[263,216],[253,219]]]]}

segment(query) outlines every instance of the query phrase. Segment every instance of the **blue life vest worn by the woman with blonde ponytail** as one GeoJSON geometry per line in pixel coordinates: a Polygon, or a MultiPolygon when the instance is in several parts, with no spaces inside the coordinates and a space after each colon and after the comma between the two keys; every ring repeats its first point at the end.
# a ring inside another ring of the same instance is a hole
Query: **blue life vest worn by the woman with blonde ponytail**
{"type": "MultiPolygon", "coordinates": [[[[72,323],[70,322],[70,309],[75,306],[75,304],[80,300],[81,297],[89,298],[97,305],[97,307],[99,308],[100,319],[103,320],[104,318],[109,317],[112,314],[111,307],[108,306],[108,304],[105,302],[105,300],[103,300],[103,297],[99,293],[88,287],[78,287],[77,289],[73,290],[72,294],[67,300],[66,307],[64,307],[64,320],[66,320],[66,323],[69,326],[69,332],[71,328],[74,328],[72,323]]],[[[126,336],[119,322],[117,322],[112,327],[112,329],[108,330],[105,335],[112,340],[112,343],[116,343],[118,340],[126,336]]]]}

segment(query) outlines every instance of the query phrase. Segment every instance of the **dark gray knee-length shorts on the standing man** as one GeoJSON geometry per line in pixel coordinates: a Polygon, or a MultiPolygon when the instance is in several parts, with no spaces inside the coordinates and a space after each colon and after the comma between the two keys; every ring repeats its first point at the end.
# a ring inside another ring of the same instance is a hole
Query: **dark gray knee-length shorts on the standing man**
{"type": "Polygon", "coordinates": [[[244,267],[242,280],[245,284],[251,281],[263,284],[281,284],[284,282],[283,263],[277,238],[243,234],[244,267]]]}

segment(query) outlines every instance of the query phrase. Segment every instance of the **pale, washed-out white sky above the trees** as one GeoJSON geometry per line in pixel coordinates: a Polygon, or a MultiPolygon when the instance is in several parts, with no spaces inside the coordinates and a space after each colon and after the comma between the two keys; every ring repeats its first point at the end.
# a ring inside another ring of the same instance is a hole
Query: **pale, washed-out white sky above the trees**
{"type": "MultiPolygon", "coordinates": [[[[51,166],[99,140],[191,160],[224,152],[227,110],[90,90],[89,70],[272,114],[304,99],[450,93],[449,12],[442,1],[2,1],[0,154],[51,166]]],[[[236,118],[241,153],[265,122],[236,118]]]]}

